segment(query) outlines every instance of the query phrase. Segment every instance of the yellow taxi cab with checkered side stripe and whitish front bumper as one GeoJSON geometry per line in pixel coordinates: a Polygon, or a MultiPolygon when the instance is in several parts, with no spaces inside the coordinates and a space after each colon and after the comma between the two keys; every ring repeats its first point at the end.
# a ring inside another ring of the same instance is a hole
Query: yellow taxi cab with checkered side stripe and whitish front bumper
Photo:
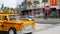
{"type": "Polygon", "coordinates": [[[0,14],[0,31],[8,34],[32,34],[34,21],[23,20],[18,14],[0,14]]]}

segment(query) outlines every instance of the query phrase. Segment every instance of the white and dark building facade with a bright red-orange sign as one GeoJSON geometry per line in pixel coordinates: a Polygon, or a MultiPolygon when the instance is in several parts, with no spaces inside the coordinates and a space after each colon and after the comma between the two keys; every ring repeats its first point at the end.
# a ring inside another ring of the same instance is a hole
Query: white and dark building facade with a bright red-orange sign
{"type": "MultiPolygon", "coordinates": [[[[29,15],[29,16],[44,16],[44,12],[45,12],[45,6],[49,6],[50,7],[50,10],[49,10],[49,16],[48,17],[59,17],[60,16],[60,0],[48,0],[47,3],[44,3],[42,2],[42,0],[25,0],[23,3],[22,3],[22,7],[23,8],[19,8],[19,9],[23,9],[21,10],[20,13],[22,13],[23,15],[29,15]],[[29,6],[27,6],[27,4],[25,4],[25,2],[32,2],[32,5],[30,5],[30,8],[29,6]],[[39,1],[40,3],[36,5],[34,5],[34,1],[39,1]]],[[[20,11],[20,10],[19,10],[20,11]]],[[[19,13],[19,12],[18,12],[19,13]]]]}

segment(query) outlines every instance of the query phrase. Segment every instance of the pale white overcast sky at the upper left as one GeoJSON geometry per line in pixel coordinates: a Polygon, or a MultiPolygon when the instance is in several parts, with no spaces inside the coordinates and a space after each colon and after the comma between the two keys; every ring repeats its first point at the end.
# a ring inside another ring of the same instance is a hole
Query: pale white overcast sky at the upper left
{"type": "Polygon", "coordinates": [[[0,7],[1,4],[4,4],[4,6],[15,8],[17,4],[21,4],[24,0],[0,0],[0,7]]]}

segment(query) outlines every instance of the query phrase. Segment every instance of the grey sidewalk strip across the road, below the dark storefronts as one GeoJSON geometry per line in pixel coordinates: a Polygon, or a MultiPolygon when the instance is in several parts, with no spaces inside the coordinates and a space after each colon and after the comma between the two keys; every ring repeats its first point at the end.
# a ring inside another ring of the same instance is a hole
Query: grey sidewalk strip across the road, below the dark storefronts
{"type": "Polygon", "coordinates": [[[56,18],[48,18],[48,19],[43,19],[43,18],[34,18],[34,21],[36,23],[46,23],[46,24],[58,24],[60,23],[60,19],[56,18]]]}

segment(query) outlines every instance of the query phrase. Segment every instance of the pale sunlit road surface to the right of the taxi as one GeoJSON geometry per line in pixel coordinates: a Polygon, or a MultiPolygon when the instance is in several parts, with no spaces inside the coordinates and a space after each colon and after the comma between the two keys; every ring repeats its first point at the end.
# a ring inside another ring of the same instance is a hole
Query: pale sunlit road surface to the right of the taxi
{"type": "Polygon", "coordinates": [[[38,24],[36,23],[33,34],[60,34],[60,24],[38,24]]]}

